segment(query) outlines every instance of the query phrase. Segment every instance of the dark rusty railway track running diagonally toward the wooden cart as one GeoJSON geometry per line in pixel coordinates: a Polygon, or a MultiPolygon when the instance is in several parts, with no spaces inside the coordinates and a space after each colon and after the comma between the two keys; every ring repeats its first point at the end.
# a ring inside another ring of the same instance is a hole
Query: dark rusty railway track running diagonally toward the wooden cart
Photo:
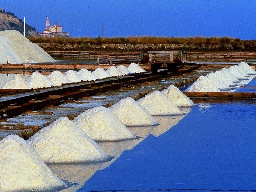
{"type": "MultiPolygon", "coordinates": [[[[195,65],[187,70],[179,71],[179,74],[188,73],[199,67],[200,65],[195,65]]],[[[146,73],[134,76],[112,77],[96,82],[81,82],[63,87],[49,88],[40,92],[30,91],[18,94],[17,97],[14,96],[14,98],[0,101],[0,119],[14,117],[28,110],[36,111],[46,106],[59,105],[67,100],[77,100],[100,92],[116,90],[128,85],[154,81],[174,75],[176,74],[167,73],[167,70],[164,70],[158,72],[157,75],[146,73]]]]}

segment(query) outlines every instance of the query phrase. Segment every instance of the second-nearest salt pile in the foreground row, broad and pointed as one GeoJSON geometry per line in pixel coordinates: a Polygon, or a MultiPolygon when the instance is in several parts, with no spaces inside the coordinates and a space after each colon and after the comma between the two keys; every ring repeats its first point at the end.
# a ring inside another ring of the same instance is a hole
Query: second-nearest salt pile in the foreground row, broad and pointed
{"type": "Polygon", "coordinates": [[[68,117],[61,117],[28,142],[46,163],[95,162],[107,159],[107,154],[68,117]]]}

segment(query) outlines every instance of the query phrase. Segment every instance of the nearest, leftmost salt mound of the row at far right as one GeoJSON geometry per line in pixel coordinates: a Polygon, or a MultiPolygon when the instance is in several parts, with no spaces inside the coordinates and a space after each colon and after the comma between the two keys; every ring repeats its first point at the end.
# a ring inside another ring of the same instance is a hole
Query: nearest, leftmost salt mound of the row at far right
{"type": "Polygon", "coordinates": [[[211,79],[205,76],[200,76],[196,82],[190,85],[185,91],[191,92],[220,92],[211,79]]]}

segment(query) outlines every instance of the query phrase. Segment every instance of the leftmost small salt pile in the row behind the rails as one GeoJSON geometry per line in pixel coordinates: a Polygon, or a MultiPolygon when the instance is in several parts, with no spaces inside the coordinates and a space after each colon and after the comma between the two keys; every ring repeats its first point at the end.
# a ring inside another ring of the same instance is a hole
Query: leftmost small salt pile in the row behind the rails
{"type": "Polygon", "coordinates": [[[1,89],[32,89],[33,86],[28,84],[21,74],[17,74],[10,81],[6,82],[1,89]]]}

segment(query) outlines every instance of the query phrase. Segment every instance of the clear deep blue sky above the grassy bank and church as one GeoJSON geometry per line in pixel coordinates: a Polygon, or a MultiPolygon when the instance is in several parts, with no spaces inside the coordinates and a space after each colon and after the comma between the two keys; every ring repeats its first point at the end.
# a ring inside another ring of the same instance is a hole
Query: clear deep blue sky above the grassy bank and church
{"type": "Polygon", "coordinates": [[[3,0],[43,32],[47,16],[73,37],[228,36],[256,39],[255,0],[3,0]]]}

